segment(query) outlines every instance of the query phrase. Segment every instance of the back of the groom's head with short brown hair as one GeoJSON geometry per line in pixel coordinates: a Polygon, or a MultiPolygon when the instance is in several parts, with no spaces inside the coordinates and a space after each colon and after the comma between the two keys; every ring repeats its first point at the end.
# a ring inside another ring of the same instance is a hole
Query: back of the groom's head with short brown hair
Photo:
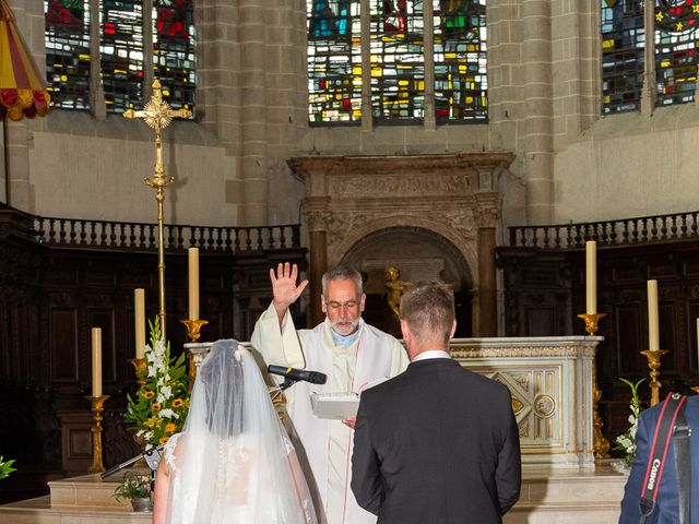
{"type": "Polygon", "coordinates": [[[454,293],[442,282],[419,282],[401,297],[401,319],[418,340],[449,344],[454,318],[454,293]]]}

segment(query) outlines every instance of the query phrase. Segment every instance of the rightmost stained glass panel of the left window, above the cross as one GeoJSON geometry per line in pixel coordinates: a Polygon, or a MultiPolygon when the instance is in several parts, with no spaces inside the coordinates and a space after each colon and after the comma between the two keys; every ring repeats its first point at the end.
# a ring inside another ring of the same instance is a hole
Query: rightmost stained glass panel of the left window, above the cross
{"type": "Polygon", "coordinates": [[[191,0],[154,0],[153,67],[163,97],[174,107],[194,107],[197,86],[191,0]]]}

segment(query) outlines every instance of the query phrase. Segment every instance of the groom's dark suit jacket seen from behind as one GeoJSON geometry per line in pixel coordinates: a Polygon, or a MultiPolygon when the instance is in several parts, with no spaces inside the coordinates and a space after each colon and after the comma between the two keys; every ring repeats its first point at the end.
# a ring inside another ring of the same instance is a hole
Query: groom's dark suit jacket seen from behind
{"type": "Polygon", "coordinates": [[[505,385],[434,358],[362,394],[352,490],[379,523],[500,523],[520,480],[505,385]]]}

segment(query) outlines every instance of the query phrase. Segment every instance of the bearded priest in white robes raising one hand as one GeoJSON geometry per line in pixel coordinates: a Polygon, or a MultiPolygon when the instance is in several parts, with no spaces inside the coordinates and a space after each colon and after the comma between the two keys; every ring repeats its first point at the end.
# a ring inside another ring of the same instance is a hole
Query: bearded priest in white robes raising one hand
{"type": "Polygon", "coordinates": [[[270,270],[273,300],[258,320],[252,346],[268,365],[319,371],[324,385],[297,382],[286,390],[293,430],[306,455],[307,478],[316,496],[319,522],[364,524],[376,516],[359,508],[350,488],[355,417],[321,419],[313,414],[312,393],[360,393],[367,384],[394,377],[407,367],[405,349],[393,336],[362,319],[366,295],[362,275],[337,267],[322,277],[321,308],[325,320],[312,330],[296,330],[288,312],[308,285],[297,284],[296,264],[270,270]]]}

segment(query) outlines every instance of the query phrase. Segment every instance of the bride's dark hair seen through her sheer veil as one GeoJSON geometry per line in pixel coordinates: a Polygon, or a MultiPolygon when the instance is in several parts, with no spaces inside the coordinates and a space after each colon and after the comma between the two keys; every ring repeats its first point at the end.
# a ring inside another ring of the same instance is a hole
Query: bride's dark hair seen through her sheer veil
{"type": "Polygon", "coordinates": [[[220,437],[233,437],[242,432],[244,362],[233,348],[215,344],[199,368],[198,379],[206,394],[206,426],[220,437]]]}

